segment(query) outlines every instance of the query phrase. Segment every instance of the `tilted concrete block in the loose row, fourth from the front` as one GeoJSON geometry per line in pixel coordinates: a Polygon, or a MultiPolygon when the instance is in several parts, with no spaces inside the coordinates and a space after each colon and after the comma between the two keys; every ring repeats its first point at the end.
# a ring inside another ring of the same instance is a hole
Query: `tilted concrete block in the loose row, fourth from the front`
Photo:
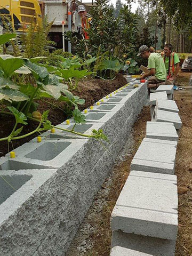
{"type": "Polygon", "coordinates": [[[182,126],[181,118],[178,113],[164,111],[157,108],[155,108],[154,110],[151,121],[173,123],[175,126],[175,129],[177,130],[179,130],[182,126]]]}

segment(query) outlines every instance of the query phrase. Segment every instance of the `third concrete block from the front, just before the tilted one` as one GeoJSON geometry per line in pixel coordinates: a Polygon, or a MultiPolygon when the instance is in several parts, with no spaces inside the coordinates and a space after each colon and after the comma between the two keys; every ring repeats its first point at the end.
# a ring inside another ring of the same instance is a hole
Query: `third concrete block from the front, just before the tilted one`
{"type": "Polygon", "coordinates": [[[178,141],[173,123],[147,122],[146,138],[178,141]]]}

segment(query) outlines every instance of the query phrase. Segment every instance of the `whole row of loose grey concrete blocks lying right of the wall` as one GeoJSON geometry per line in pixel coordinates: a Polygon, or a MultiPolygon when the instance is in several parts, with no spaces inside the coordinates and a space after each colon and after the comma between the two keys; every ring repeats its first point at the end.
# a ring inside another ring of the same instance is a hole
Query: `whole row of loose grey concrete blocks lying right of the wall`
{"type": "Polygon", "coordinates": [[[158,88],[150,94],[155,122],[147,122],[146,138],[111,214],[110,256],[174,255],[178,230],[174,162],[182,123],[176,103],[169,100],[172,96],[167,99],[172,88],[158,88]]]}

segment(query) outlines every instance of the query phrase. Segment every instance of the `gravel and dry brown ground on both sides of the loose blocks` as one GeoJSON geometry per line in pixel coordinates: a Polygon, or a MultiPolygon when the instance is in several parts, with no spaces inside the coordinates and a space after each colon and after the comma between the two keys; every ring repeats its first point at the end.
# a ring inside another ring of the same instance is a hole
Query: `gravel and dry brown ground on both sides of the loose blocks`
{"type": "MultiPolygon", "coordinates": [[[[179,73],[176,84],[188,86],[191,73],[179,73]]],[[[175,256],[192,255],[192,90],[174,91],[182,128],[177,147],[175,175],[178,177],[179,230],[175,256]]],[[[67,256],[109,256],[111,243],[110,216],[130,173],[130,164],[145,138],[146,122],[150,121],[149,106],[143,107],[129,140],[116,159],[113,170],[86,214],[67,256]]]]}

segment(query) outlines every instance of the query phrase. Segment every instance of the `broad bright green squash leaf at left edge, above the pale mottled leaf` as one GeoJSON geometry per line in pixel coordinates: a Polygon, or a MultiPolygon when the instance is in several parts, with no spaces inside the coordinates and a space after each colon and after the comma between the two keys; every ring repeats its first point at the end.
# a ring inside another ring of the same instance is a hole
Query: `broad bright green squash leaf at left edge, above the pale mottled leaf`
{"type": "Polygon", "coordinates": [[[13,72],[23,66],[23,60],[19,58],[9,58],[3,60],[0,57],[0,69],[3,71],[5,77],[11,77],[13,72]]]}

